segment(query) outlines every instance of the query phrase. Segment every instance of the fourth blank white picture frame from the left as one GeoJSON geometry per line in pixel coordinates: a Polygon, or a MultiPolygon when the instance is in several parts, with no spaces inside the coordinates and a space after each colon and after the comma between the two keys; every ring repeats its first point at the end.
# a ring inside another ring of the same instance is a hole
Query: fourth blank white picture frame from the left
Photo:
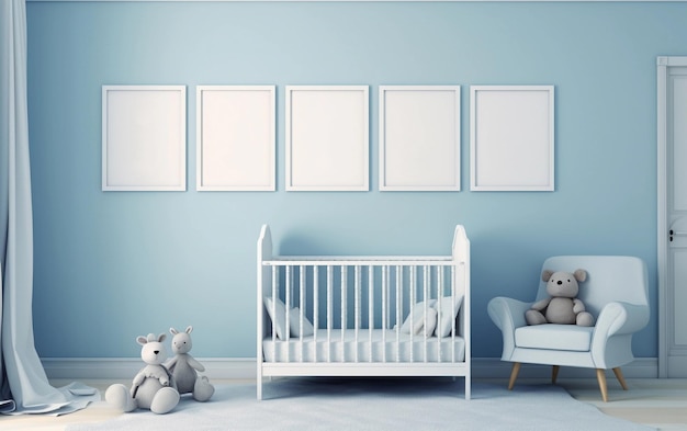
{"type": "Polygon", "coordinates": [[[380,86],[380,191],[460,191],[460,86],[380,86]]]}

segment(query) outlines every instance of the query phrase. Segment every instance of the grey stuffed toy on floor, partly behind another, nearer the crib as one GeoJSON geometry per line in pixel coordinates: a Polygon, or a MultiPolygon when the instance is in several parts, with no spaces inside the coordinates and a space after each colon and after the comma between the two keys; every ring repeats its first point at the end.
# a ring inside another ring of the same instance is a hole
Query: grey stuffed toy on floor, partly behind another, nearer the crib
{"type": "Polygon", "coordinates": [[[172,336],[172,353],[174,358],[167,361],[165,366],[172,373],[177,383],[179,394],[192,394],[196,401],[207,401],[215,393],[215,388],[210,384],[207,377],[199,376],[198,371],[205,371],[203,364],[189,354],[193,347],[191,342],[191,331],[193,327],[188,327],[184,332],[179,332],[174,328],[169,328],[172,336]]]}

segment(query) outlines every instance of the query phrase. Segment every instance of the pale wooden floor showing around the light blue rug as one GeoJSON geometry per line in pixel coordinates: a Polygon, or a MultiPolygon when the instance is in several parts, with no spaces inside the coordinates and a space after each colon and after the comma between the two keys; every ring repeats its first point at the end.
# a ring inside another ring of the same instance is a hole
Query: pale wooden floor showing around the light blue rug
{"type": "MultiPolygon", "coordinates": [[[[500,381],[489,381],[500,382],[500,381]]],[[[70,382],[53,381],[54,386],[65,386],[70,382]]],[[[83,381],[82,383],[104,390],[113,381],[83,381]]],[[[131,382],[121,382],[128,385],[131,382]]],[[[237,383],[218,381],[216,384],[237,383]]],[[[240,381],[239,383],[247,383],[240,381]]],[[[518,383],[536,383],[521,379],[518,383]]],[[[604,402],[596,379],[560,379],[559,384],[576,399],[596,406],[607,415],[655,427],[660,430],[687,431],[687,379],[628,378],[629,390],[609,381],[609,402],[604,402]]],[[[503,381],[506,385],[507,382],[503,381]]],[[[516,385],[517,389],[517,385],[516,385]]],[[[514,390],[516,390],[514,389],[514,390]]],[[[61,431],[69,423],[102,421],[121,415],[105,402],[93,404],[87,409],[63,417],[4,416],[0,417],[1,430],[61,431]]]]}

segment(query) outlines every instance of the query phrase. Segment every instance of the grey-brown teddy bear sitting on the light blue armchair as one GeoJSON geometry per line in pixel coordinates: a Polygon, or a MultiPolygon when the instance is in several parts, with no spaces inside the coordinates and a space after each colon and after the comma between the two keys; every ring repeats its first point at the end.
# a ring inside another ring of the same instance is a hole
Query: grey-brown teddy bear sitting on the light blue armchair
{"type": "Polygon", "coordinates": [[[528,325],[562,324],[594,326],[594,316],[585,310],[582,299],[577,298],[579,284],[587,280],[585,270],[573,273],[544,270],[541,280],[547,282],[548,298],[532,304],[525,311],[528,325]]]}

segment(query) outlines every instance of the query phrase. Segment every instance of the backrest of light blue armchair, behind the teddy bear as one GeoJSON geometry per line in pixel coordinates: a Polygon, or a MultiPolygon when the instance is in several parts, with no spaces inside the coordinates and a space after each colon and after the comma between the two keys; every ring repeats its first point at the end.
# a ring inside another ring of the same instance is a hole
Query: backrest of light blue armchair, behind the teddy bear
{"type": "MultiPolygon", "coordinates": [[[[643,260],[630,256],[556,256],[544,261],[541,272],[578,269],[587,271],[587,280],[579,283],[577,297],[594,317],[598,317],[606,304],[616,300],[649,305],[649,275],[643,260]]],[[[541,272],[537,300],[549,296],[541,272]]]]}

